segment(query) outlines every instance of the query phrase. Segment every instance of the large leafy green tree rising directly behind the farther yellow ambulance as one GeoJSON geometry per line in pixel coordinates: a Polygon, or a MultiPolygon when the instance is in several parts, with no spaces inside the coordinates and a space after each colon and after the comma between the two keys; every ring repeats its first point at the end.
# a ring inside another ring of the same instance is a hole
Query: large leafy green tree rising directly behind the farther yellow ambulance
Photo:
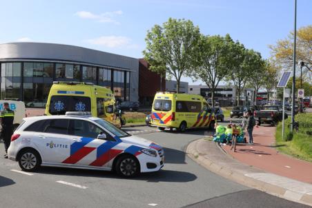
{"type": "Polygon", "coordinates": [[[144,59],[153,72],[166,71],[168,78],[177,81],[177,93],[182,75],[195,69],[199,63],[199,40],[201,34],[198,26],[184,19],[168,19],[162,26],[155,25],[146,35],[144,59]]]}

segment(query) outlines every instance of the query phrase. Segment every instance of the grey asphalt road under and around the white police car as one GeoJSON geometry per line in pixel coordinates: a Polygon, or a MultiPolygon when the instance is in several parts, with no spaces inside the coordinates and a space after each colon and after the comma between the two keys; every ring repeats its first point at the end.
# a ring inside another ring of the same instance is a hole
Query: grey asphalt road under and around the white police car
{"type": "Polygon", "coordinates": [[[209,132],[155,132],[153,127],[126,130],[165,147],[164,169],[133,179],[108,171],[52,167],[26,175],[19,172],[17,163],[1,157],[0,207],[306,207],[244,187],[197,165],[184,149],[209,132]]]}

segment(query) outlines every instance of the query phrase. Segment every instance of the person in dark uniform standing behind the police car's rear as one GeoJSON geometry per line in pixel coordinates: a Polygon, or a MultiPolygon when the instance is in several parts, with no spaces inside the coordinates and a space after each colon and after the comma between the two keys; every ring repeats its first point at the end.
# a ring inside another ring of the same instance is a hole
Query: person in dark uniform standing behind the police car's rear
{"type": "Polygon", "coordinates": [[[6,154],[4,158],[8,158],[8,148],[11,143],[11,136],[13,134],[13,120],[14,120],[14,111],[10,110],[9,103],[3,103],[4,110],[0,114],[0,120],[2,125],[2,137],[4,141],[4,148],[6,154]]]}

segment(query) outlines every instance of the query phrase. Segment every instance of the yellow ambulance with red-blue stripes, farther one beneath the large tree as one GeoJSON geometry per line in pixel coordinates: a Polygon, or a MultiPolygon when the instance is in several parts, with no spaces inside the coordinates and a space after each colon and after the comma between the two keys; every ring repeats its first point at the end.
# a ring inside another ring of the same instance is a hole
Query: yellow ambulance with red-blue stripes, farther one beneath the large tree
{"type": "Polygon", "coordinates": [[[196,94],[157,92],[153,101],[152,125],[159,129],[211,128],[215,115],[204,97],[196,94]]]}

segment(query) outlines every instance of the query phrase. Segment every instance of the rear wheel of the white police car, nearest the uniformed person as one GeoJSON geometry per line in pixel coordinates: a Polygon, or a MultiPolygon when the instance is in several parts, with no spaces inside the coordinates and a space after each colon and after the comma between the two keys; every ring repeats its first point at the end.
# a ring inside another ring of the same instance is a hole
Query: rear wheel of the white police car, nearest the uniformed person
{"type": "Polygon", "coordinates": [[[41,163],[39,154],[33,149],[23,150],[18,160],[19,167],[21,167],[23,171],[35,171],[41,163]]]}

